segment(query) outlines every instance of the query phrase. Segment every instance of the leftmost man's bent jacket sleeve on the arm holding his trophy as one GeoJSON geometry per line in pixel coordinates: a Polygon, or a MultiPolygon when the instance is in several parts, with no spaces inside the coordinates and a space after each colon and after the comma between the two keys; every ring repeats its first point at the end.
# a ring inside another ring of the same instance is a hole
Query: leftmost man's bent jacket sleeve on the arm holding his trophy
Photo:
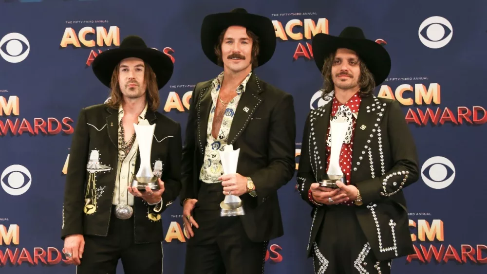
{"type": "Polygon", "coordinates": [[[155,206],[155,212],[163,212],[174,201],[181,191],[181,125],[177,123],[176,130],[169,142],[169,161],[161,180],[164,182],[162,194],[162,207],[155,206]]]}

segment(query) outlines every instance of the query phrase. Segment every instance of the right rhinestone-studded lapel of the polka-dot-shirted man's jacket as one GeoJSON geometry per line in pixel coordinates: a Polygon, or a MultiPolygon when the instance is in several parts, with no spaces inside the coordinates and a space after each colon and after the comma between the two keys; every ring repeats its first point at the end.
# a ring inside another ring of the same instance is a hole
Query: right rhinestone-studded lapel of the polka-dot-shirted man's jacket
{"type": "MultiPolygon", "coordinates": [[[[354,145],[352,154],[352,182],[355,182],[355,176],[359,168],[363,166],[364,158],[369,157],[369,149],[373,138],[380,134],[378,126],[383,117],[385,106],[381,105],[375,96],[362,98],[354,133],[354,145]]],[[[367,162],[365,162],[367,163],[367,162]]]]}

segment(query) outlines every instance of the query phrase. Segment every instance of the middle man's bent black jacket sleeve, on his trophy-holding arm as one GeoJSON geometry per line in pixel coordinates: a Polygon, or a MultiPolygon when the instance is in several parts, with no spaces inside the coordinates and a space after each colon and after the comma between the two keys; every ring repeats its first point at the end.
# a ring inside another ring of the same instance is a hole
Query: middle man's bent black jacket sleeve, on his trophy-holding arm
{"type": "Polygon", "coordinates": [[[296,114],[292,95],[284,95],[271,112],[268,136],[269,165],[250,175],[260,197],[269,196],[294,176],[296,114]]]}

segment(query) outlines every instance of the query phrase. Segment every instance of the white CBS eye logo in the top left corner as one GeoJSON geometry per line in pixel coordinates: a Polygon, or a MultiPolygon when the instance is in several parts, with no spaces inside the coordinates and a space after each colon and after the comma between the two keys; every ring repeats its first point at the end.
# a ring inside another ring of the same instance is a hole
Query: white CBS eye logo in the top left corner
{"type": "Polygon", "coordinates": [[[0,56],[7,62],[22,62],[29,52],[29,40],[19,33],[9,33],[0,40],[0,56]]]}

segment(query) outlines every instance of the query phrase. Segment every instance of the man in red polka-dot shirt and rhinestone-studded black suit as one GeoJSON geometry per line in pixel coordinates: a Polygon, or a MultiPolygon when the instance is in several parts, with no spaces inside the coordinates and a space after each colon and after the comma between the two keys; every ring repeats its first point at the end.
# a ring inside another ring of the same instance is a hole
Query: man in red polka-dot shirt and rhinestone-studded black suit
{"type": "Polygon", "coordinates": [[[313,207],[308,256],[317,274],[388,274],[393,258],[413,253],[402,189],[418,179],[399,103],[373,95],[391,59],[356,27],[318,34],[313,55],[328,102],[306,118],[297,175],[313,207]],[[341,180],[320,184],[331,178],[341,180]]]}

